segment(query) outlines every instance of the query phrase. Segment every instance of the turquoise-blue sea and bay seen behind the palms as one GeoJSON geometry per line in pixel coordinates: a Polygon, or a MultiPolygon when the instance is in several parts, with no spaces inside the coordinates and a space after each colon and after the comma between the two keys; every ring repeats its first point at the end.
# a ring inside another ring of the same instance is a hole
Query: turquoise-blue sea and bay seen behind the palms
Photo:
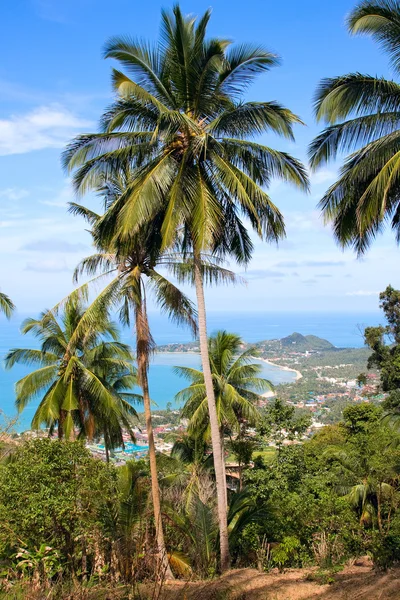
{"type": "MultiPolygon", "coordinates": [[[[11,348],[36,348],[37,341],[31,335],[23,336],[20,325],[28,315],[14,315],[11,321],[0,319],[0,424],[7,418],[16,416],[15,382],[30,372],[30,368],[16,365],[11,370],[4,369],[4,356],[11,348]]],[[[32,316],[32,315],[30,315],[32,316]]],[[[175,326],[158,313],[149,315],[151,331],[156,344],[186,343],[192,340],[187,329],[175,326]]],[[[335,313],[335,312],[210,312],[208,331],[210,334],[225,329],[239,334],[246,342],[258,342],[266,339],[280,339],[294,332],[303,335],[317,335],[340,348],[359,348],[363,346],[362,332],[366,326],[378,325],[382,317],[375,313],[335,313]]],[[[122,331],[122,339],[134,345],[134,334],[122,331]]],[[[290,383],[295,379],[293,371],[284,371],[279,367],[262,365],[262,376],[273,384],[290,383]]],[[[151,363],[149,373],[150,394],[155,409],[165,409],[171,403],[178,408],[175,395],[186,386],[174,373],[175,366],[200,368],[200,357],[193,353],[157,352],[151,363]]],[[[17,431],[29,429],[30,422],[39,400],[32,401],[19,415],[14,426],[17,431]]],[[[140,411],[140,406],[137,407],[140,411]]]]}

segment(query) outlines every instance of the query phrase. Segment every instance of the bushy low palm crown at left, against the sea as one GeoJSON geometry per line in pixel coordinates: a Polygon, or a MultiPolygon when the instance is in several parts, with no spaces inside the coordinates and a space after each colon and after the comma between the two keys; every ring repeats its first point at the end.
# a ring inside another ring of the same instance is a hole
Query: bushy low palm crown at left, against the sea
{"type": "Polygon", "coordinates": [[[131,402],[141,397],[130,392],[137,383],[133,355],[118,340],[110,321],[97,327],[80,327],[84,306],[69,301],[61,319],[44,312],[39,319],[26,319],[22,333],[40,340],[40,349],[12,349],[5,358],[6,368],[15,364],[38,368],[16,384],[18,412],[41,398],[32,428],[42,424],[58,437],[78,435],[93,439],[104,435],[107,452],[123,445],[123,428],[132,439],[132,419],[137,417],[131,402]],[[79,329],[79,335],[77,330],[79,329]]]}

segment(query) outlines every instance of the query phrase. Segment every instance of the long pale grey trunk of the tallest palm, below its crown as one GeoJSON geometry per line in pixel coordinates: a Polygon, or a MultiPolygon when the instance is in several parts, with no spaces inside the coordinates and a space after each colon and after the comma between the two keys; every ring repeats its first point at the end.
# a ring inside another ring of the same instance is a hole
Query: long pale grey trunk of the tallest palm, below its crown
{"type": "Polygon", "coordinates": [[[203,277],[201,273],[201,259],[199,253],[195,253],[194,255],[194,279],[197,297],[197,310],[199,316],[199,340],[201,362],[203,366],[204,383],[206,386],[207,393],[208,413],[210,417],[211,428],[211,442],[214,457],[214,470],[217,485],[219,543],[221,551],[221,571],[223,573],[224,571],[227,571],[230,567],[226,504],[226,479],[224,478],[217,406],[215,403],[210,358],[208,354],[206,306],[204,300],[203,277]]]}

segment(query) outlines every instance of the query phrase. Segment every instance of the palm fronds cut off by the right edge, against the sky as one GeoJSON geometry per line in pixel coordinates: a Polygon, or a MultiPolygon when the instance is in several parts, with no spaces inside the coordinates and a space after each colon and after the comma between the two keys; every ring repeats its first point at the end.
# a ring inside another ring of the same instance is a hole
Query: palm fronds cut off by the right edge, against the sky
{"type": "MultiPolygon", "coordinates": [[[[352,34],[371,35],[400,72],[400,3],[364,0],[347,20],[352,34]]],[[[326,221],[343,246],[362,254],[390,222],[400,241],[400,84],[350,73],[322,80],[315,98],[318,120],[328,127],[310,146],[317,169],[339,152],[352,150],[340,177],[320,201],[326,221]]]]}

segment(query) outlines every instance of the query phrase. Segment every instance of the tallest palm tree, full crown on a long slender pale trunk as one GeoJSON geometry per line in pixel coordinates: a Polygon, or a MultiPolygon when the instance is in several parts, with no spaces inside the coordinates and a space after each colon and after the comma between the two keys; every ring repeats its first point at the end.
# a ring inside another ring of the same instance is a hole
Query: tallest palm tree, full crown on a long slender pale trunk
{"type": "Polygon", "coordinates": [[[273,132],[293,139],[300,119],[277,102],[244,102],[243,94],[260,73],[278,64],[264,48],[229,48],[222,39],[207,39],[210,19],[162,12],[160,42],[154,46],[114,38],[106,57],[117,59],[126,73],[113,71],[119,99],[103,117],[103,131],[82,135],[64,154],[75,170],[77,191],[84,193],[99,173],[106,178],[125,161],[135,176],[98,229],[121,235],[164,212],[163,246],[182,228],[183,247],[193,252],[202,366],[207,389],[217,494],[221,568],[229,567],[226,502],[220,436],[207,347],[201,253],[232,254],[246,264],[252,242],[243,217],[256,233],[277,241],[284,235],[283,217],[263,188],[278,177],[307,189],[301,163],[289,154],[253,140],[273,132]]]}

